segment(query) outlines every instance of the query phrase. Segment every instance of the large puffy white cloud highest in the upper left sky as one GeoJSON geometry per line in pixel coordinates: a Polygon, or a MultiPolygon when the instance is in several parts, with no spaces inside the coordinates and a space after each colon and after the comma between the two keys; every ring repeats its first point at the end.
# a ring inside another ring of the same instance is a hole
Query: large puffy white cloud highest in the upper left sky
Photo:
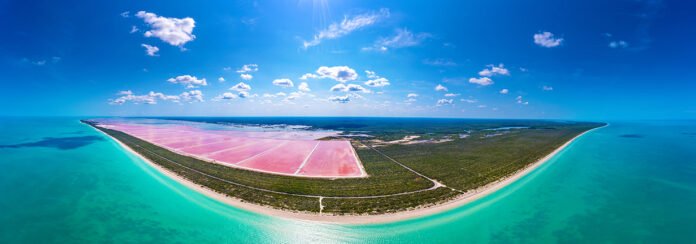
{"type": "Polygon", "coordinates": [[[136,16],[143,19],[152,29],[145,32],[146,37],[157,37],[172,46],[183,47],[196,39],[193,28],[196,22],[191,17],[183,19],[157,16],[154,13],[139,11],[136,16]]]}

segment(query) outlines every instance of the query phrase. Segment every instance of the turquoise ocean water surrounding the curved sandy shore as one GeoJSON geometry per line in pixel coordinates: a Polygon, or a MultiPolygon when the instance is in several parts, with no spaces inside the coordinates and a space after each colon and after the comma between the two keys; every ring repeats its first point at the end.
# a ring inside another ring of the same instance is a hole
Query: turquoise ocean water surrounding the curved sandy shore
{"type": "Polygon", "coordinates": [[[695,121],[612,122],[469,205],[352,226],[218,203],[77,118],[0,134],[0,243],[696,243],[695,121]]]}

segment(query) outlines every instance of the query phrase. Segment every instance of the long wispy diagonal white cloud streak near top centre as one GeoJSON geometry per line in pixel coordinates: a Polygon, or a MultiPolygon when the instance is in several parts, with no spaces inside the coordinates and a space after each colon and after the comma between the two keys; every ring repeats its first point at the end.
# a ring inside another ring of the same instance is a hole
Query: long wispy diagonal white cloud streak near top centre
{"type": "Polygon", "coordinates": [[[328,28],[319,31],[311,41],[302,43],[305,49],[319,45],[323,40],[336,39],[360,28],[373,25],[377,21],[389,17],[389,9],[383,8],[379,12],[365,13],[352,17],[344,16],[341,23],[332,23],[328,28]]]}

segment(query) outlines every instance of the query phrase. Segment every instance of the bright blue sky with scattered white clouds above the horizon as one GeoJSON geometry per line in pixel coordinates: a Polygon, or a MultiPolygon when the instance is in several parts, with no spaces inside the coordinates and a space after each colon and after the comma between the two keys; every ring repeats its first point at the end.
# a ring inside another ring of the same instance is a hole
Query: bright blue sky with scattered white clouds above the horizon
{"type": "Polygon", "coordinates": [[[696,118],[691,1],[0,0],[0,115],[696,118]]]}

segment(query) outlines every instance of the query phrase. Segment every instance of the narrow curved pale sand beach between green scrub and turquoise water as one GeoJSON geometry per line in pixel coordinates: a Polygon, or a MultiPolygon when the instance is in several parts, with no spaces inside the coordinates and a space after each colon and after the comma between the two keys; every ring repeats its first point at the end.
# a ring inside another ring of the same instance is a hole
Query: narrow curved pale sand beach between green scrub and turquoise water
{"type": "Polygon", "coordinates": [[[441,202],[441,203],[435,203],[430,206],[425,206],[425,207],[420,207],[412,210],[406,210],[406,211],[401,211],[397,213],[387,213],[387,214],[379,214],[379,215],[322,215],[320,213],[306,213],[306,212],[292,212],[288,210],[281,210],[281,209],[276,209],[276,208],[271,208],[267,206],[262,206],[262,205],[257,205],[253,203],[247,203],[244,202],[240,199],[227,196],[225,194],[213,191],[207,187],[204,187],[202,185],[198,185],[194,182],[189,181],[188,179],[179,176],[178,174],[157,165],[156,163],[150,161],[149,159],[145,158],[144,156],[140,155],[127,145],[123,144],[121,141],[117,140],[116,138],[113,138],[109,134],[96,129],[92,126],[92,129],[106,135],[107,137],[111,138],[113,141],[118,143],[123,149],[126,151],[132,153],[133,155],[136,155],[140,159],[142,159],[146,164],[151,166],[152,168],[156,169],[158,172],[161,174],[166,175],[167,177],[177,181],[178,183],[195,190],[207,197],[213,198],[219,202],[225,203],[227,205],[236,207],[236,208],[241,208],[246,211],[251,211],[254,213],[259,213],[259,214],[264,214],[264,215],[270,215],[273,217],[280,217],[280,218],[286,218],[286,219],[293,219],[293,220],[304,220],[304,221],[313,221],[313,222],[324,222],[324,223],[335,223],[335,224],[378,224],[378,223],[389,223],[389,222],[397,222],[397,221],[403,221],[403,220],[409,220],[409,219],[414,219],[414,218],[419,218],[419,217],[425,217],[428,215],[433,215],[437,214],[440,212],[444,212],[447,210],[451,210],[457,207],[464,206],[468,203],[471,203],[475,200],[478,200],[480,198],[483,198],[487,195],[490,195],[491,193],[496,192],[497,190],[500,190],[504,188],[505,186],[517,181],[518,179],[526,176],[527,174],[531,173],[544,163],[546,163],[549,159],[551,159],[553,156],[558,154],[560,151],[565,149],[568,145],[573,143],[576,139],[580,138],[581,136],[594,131],[596,129],[600,129],[603,127],[608,126],[609,124],[606,124],[601,127],[593,128],[590,130],[587,130],[583,133],[578,134],[577,136],[573,137],[572,139],[568,140],[565,142],[563,145],[560,147],[556,148],[554,151],[549,153],[548,155],[544,156],[543,158],[537,160],[536,162],[528,165],[527,167],[519,170],[518,172],[502,178],[498,181],[491,182],[485,186],[476,188],[474,190],[467,191],[465,194],[462,194],[461,196],[458,196],[456,198],[453,198],[451,200],[441,202]]]}

